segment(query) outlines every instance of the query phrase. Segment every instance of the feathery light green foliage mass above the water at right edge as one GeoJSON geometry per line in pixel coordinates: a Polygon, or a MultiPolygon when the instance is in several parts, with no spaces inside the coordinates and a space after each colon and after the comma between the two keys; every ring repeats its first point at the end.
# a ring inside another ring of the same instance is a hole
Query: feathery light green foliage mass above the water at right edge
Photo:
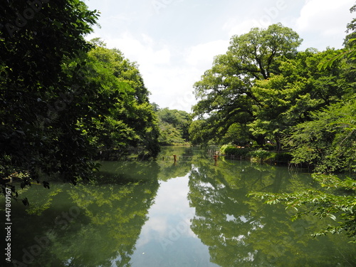
{"type": "Polygon", "coordinates": [[[286,137],[293,162],[313,164],[318,172],[355,172],[356,101],[330,105],[312,119],[286,137]]]}

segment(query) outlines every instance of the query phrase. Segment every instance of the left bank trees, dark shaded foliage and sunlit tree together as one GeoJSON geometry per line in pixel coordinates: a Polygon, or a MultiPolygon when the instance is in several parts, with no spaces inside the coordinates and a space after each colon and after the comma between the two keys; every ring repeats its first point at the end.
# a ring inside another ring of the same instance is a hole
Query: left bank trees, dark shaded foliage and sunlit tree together
{"type": "Polygon", "coordinates": [[[1,4],[3,192],[16,194],[8,183],[16,178],[21,187],[48,176],[75,184],[103,151],[159,152],[157,115],[137,64],[98,39],[85,41],[98,16],[83,1],[1,4]]]}

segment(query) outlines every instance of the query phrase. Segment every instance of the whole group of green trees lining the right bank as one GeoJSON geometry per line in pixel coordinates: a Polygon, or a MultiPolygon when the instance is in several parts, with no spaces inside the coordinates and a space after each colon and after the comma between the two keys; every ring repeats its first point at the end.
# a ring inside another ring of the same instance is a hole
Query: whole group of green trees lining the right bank
{"type": "Polygon", "coordinates": [[[355,21],[347,28],[345,48],[322,52],[298,51],[281,23],[233,36],[194,84],[192,143],[273,144],[320,172],[355,172],[355,21]]]}

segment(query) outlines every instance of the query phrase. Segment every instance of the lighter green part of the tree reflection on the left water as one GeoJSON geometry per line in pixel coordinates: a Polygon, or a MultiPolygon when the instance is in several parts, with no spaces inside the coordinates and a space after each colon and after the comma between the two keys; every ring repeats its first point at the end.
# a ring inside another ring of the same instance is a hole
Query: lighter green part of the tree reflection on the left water
{"type": "Polygon", "coordinates": [[[117,261],[117,266],[130,266],[130,256],[157,188],[155,179],[125,186],[73,188],[68,194],[83,210],[84,225],[73,239],[68,239],[68,234],[56,236],[53,249],[58,258],[69,260],[73,266],[112,266],[112,261],[117,261]],[[78,246],[87,248],[86,253],[80,249],[73,255],[78,246]]]}

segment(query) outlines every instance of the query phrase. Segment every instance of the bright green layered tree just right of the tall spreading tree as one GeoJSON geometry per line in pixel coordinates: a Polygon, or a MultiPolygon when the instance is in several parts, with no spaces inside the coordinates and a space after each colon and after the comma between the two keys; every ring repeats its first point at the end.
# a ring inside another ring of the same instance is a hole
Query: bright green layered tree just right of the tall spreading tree
{"type": "Polygon", "coordinates": [[[268,80],[257,80],[251,89],[261,108],[253,110],[255,120],[248,124],[254,135],[266,135],[281,149],[281,137],[298,123],[310,120],[310,112],[345,99],[352,93],[354,78],[347,75],[352,68],[337,61],[330,68],[318,65],[333,50],[318,52],[308,49],[293,59],[282,58],[279,74],[268,80]]]}

